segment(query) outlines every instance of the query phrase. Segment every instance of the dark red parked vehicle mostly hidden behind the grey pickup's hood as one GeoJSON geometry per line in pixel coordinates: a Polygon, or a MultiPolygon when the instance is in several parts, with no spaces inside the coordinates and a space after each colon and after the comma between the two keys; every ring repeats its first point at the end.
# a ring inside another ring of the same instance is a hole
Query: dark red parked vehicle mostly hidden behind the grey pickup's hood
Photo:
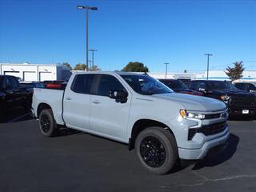
{"type": "Polygon", "coordinates": [[[167,78],[162,78],[158,79],[160,82],[164,83],[166,86],[168,86],[171,90],[174,90],[177,93],[181,94],[194,94],[194,95],[200,95],[202,96],[203,94],[199,91],[195,90],[190,90],[184,82],[178,79],[167,79],[167,78]]]}

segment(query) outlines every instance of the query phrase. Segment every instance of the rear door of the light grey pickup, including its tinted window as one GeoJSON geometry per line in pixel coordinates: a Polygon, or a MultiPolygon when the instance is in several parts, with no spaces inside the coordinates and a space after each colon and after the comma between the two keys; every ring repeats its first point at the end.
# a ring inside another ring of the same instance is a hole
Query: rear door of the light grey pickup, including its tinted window
{"type": "Polygon", "coordinates": [[[90,90],[94,77],[94,74],[76,74],[70,79],[72,83],[66,86],[63,98],[63,119],[66,126],[90,130],[90,90]]]}

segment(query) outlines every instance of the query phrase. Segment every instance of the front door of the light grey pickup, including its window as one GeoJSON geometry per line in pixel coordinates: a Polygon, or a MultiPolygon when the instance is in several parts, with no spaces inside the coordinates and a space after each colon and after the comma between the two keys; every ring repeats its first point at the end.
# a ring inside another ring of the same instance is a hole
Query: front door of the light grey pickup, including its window
{"type": "Polygon", "coordinates": [[[119,102],[110,98],[112,90],[124,90],[128,94],[118,78],[110,74],[98,75],[90,102],[90,128],[102,136],[125,141],[131,95],[128,94],[126,102],[119,102]]]}

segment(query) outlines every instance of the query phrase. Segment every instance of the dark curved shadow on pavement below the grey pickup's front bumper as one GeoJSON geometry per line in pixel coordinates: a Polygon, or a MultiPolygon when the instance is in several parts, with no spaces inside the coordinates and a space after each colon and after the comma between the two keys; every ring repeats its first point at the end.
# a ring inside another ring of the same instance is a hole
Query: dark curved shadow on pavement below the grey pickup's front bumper
{"type": "Polygon", "coordinates": [[[196,162],[192,170],[200,170],[205,166],[218,166],[219,164],[222,164],[222,162],[226,162],[234,155],[235,151],[237,150],[238,142],[238,136],[235,134],[230,134],[230,140],[225,150],[219,154],[216,154],[215,156],[206,156],[206,158],[196,162]]]}

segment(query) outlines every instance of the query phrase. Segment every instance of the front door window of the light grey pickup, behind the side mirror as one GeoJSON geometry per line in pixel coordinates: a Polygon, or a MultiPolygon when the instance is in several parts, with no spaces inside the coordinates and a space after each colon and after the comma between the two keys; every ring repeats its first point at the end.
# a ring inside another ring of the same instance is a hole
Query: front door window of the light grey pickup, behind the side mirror
{"type": "Polygon", "coordinates": [[[96,94],[108,97],[110,95],[110,90],[126,91],[124,86],[122,86],[121,82],[119,82],[117,78],[109,74],[102,74],[99,79],[96,94]]]}

